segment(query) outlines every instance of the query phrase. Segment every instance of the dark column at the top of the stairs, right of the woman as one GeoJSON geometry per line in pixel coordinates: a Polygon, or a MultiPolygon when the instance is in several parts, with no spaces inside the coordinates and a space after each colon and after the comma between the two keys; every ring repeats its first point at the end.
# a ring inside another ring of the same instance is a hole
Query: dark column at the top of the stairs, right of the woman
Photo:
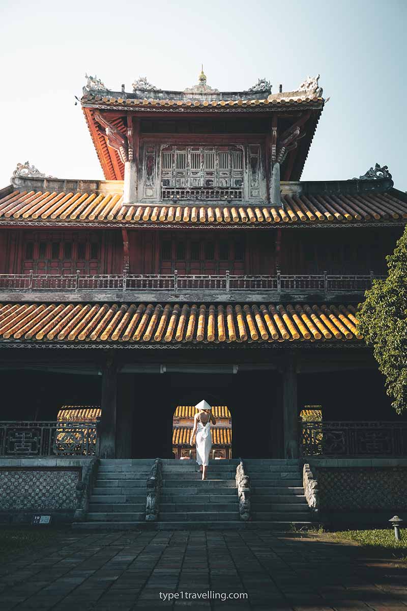
{"type": "Polygon", "coordinates": [[[294,354],[287,354],[283,370],[284,457],[298,458],[297,371],[294,354]]]}

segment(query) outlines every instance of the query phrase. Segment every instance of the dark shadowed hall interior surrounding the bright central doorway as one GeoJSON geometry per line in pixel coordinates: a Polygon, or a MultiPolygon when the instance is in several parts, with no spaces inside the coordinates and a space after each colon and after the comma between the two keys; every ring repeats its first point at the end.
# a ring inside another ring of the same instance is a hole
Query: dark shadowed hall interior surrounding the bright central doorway
{"type": "MultiPolygon", "coordinates": [[[[281,452],[283,413],[275,372],[126,375],[130,377],[135,389],[132,458],[172,458],[176,406],[196,405],[203,399],[211,405],[228,406],[233,458],[270,458],[281,452]]],[[[127,419],[121,419],[119,412],[118,426],[120,420],[124,424],[127,419]]]]}

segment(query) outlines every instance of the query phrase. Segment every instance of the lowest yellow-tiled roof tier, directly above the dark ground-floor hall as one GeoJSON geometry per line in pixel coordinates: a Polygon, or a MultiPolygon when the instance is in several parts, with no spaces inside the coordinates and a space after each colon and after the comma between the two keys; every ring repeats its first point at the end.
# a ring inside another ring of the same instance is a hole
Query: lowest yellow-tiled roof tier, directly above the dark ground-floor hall
{"type": "Polygon", "coordinates": [[[9,303],[0,307],[0,345],[348,342],[362,339],[357,324],[353,305],[9,303]]]}

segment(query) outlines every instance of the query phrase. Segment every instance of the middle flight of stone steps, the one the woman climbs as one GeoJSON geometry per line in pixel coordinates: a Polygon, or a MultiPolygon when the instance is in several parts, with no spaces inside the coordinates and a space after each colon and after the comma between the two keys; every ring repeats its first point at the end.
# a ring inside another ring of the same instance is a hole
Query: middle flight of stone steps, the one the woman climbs
{"type": "Polygon", "coordinates": [[[239,518],[236,489],[238,461],[211,460],[207,479],[195,461],[162,459],[160,529],[236,529],[239,518]]]}

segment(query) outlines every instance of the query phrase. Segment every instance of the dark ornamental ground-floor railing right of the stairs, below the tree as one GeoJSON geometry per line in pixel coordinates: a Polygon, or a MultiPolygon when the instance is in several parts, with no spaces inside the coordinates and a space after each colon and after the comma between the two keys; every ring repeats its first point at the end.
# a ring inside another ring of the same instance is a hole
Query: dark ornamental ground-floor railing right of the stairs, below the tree
{"type": "Polygon", "coordinates": [[[301,456],[407,456],[407,422],[301,422],[301,456]]]}

